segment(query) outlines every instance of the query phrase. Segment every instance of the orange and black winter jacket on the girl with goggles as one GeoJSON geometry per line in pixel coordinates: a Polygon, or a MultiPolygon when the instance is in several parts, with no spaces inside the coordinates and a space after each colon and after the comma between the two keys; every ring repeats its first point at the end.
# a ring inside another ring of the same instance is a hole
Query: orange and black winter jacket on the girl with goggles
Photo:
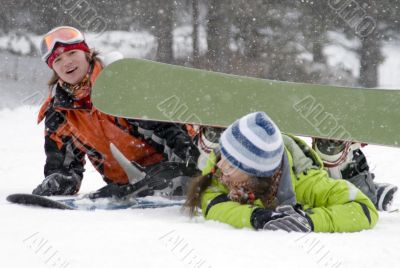
{"type": "MultiPolygon", "coordinates": [[[[91,84],[101,69],[100,62],[96,62],[91,84]]],[[[59,84],[54,96],[43,104],[38,122],[44,118],[45,176],[54,172],[75,172],[82,176],[87,155],[106,182],[128,183],[127,175],[111,154],[110,143],[129,160],[143,166],[165,159],[187,161],[188,156],[196,161],[198,157],[196,147],[182,126],[104,114],[91,104],[90,97],[74,101],[59,84]]]]}

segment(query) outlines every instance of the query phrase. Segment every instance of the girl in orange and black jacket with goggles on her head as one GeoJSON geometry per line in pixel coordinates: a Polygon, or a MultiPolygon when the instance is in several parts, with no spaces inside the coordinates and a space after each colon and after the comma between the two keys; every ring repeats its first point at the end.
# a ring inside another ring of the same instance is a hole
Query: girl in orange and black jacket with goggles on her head
{"type": "Polygon", "coordinates": [[[53,77],[38,117],[38,122],[45,119],[45,179],[34,194],[78,192],[85,155],[107,183],[127,184],[127,174],[110,151],[111,143],[129,161],[143,166],[163,160],[197,161],[197,148],[181,126],[127,120],[93,107],[91,87],[104,66],[79,30],[68,26],[51,30],[42,39],[41,52],[53,77]]]}

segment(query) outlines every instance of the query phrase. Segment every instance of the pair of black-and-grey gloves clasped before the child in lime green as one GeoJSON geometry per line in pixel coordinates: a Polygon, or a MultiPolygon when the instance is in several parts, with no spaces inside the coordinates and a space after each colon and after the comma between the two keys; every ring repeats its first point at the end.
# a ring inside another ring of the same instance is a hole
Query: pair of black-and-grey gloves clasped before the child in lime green
{"type": "Polygon", "coordinates": [[[255,229],[303,233],[313,230],[311,220],[297,206],[279,206],[275,211],[261,208],[256,209],[251,215],[251,223],[255,229]]]}

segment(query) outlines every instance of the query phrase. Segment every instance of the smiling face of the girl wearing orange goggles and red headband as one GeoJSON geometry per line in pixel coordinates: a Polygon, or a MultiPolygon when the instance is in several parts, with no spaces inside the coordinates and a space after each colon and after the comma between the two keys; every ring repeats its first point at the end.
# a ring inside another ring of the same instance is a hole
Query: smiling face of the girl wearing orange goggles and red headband
{"type": "Polygon", "coordinates": [[[64,82],[76,85],[85,77],[89,62],[82,50],[70,50],[62,53],[53,62],[53,70],[64,82]]]}

